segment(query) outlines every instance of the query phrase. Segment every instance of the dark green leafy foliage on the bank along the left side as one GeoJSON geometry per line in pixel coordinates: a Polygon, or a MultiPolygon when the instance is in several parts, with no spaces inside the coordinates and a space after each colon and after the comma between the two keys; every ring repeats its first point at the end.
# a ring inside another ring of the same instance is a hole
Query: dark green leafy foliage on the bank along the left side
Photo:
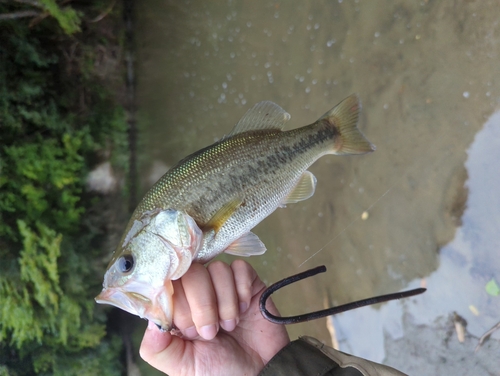
{"type": "Polygon", "coordinates": [[[93,70],[102,35],[50,27],[0,24],[0,375],[118,375],[121,339],[94,302],[102,198],[84,185],[104,157],[126,169],[125,113],[93,70]]]}

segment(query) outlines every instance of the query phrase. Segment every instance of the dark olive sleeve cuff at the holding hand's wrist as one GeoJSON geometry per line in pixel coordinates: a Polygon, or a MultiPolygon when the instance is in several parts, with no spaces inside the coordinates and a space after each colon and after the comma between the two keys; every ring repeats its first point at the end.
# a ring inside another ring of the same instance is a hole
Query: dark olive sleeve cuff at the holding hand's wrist
{"type": "Polygon", "coordinates": [[[325,346],[312,337],[290,342],[259,376],[404,376],[404,373],[325,346]]]}

